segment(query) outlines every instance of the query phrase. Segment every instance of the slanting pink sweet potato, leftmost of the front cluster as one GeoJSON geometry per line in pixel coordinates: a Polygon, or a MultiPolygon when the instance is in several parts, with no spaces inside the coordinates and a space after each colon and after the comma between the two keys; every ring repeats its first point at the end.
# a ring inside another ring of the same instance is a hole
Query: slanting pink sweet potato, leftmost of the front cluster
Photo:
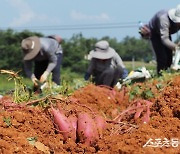
{"type": "Polygon", "coordinates": [[[59,109],[52,108],[52,114],[54,116],[55,124],[58,126],[59,131],[63,134],[64,141],[68,138],[72,138],[75,141],[76,134],[71,121],[62,112],[60,112],[59,109]]]}

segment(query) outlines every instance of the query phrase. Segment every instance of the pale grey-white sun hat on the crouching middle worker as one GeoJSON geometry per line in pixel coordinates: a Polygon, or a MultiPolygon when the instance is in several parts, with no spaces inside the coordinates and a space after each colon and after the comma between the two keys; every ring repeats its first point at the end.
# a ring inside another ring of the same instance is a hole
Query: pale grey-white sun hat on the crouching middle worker
{"type": "Polygon", "coordinates": [[[114,56],[115,50],[109,47],[109,43],[105,40],[95,44],[95,50],[90,51],[90,57],[97,59],[110,59],[114,56]]]}

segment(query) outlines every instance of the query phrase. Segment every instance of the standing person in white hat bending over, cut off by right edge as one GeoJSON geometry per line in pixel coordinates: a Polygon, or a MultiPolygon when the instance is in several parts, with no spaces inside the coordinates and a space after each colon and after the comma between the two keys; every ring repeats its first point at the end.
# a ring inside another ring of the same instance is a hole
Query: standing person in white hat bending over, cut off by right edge
{"type": "MultiPolygon", "coordinates": [[[[171,34],[180,29],[180,5],[174,9],[157,12],[150,20],[148,27],[151,32],[152,47],[156,54],[157,73],[160,75],[161,70],[170,68],[173,51],[180,46],[180,43],[175,44],[171,39],[171,34]]],[[[146,34],[148,31],[142,29],[142,32],[146,34]]]]}

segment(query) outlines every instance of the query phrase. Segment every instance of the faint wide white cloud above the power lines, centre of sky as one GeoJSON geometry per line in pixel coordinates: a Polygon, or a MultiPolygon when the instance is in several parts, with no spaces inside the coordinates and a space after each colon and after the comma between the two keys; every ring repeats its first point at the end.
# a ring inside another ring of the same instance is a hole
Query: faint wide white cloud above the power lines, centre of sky
{"type": "Polygon", "coordinates": [[[97,21],[108,21],[110,17],[106,13],[100,15],[86,15],[78,11],[71,12],[71,18],[74,20],[97,20],[97,21]]]}

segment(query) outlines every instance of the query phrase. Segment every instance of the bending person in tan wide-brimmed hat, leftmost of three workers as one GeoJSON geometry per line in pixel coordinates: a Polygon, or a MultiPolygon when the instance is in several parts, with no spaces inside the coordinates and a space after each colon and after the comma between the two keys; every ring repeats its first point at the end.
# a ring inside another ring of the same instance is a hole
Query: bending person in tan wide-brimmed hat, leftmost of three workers
{"type": "Polygon", "coordinates": [[[57,35],[49,37],[32,36],[22,40],[24,69],[35,87],[38,85],[38,80],[44,83],[51,72],[53,82],[60,85],[60,66],[63,54],[61,41],[61,37],[57,35]],[[34,69],[32,68],[33,64],[34,69]]]}

